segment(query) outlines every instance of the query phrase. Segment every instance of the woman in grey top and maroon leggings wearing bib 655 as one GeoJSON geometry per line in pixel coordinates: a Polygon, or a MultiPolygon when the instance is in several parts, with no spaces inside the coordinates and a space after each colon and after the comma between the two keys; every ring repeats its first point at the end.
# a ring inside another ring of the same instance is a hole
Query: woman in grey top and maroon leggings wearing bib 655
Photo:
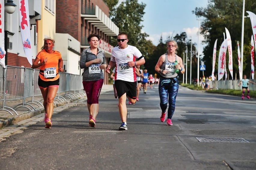
{"type": "Polygon", "coordinates": [[[104,75],[102,70],[106,68],[105,53],[98,48],[100,37],[98,34],[90,34],[87,37],[90,47],[81,53],[80,68],[84,69],[83,86],[87,96],[87,108],[89,111],[89,126],[95,127],[96,116],[99,112],[99,94],[102,89],[104,75]]]}

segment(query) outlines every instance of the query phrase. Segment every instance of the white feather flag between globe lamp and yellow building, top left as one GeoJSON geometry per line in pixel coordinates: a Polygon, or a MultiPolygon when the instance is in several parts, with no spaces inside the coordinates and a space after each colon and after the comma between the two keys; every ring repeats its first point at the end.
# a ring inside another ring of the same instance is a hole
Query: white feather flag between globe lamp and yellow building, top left
{"type": "Polygon", "coordinates": [[[21,38],[23,43],[23,49],[29,63],[32,65],[28,0],[19,0],[19,7],[20,7],[20,32],[21,32],[21,38]]]}

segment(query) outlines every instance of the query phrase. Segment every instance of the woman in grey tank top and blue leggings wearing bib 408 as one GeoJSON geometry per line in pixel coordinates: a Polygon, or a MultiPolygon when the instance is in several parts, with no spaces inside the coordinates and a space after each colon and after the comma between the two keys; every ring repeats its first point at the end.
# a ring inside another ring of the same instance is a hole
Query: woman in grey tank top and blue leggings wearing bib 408
{"type": "Polygon", "coordinates": [[[178,50],[177,42],[167,42],[167,53],[160,56],[155,66],[155,70],[160,73],[158,90],[160,107],[162,110],[160,117],[161,122],[165,121],[167,103],[169,102],[167,125],[172,125],[172,115],[175,110],[175,101],[179,89],[179,81],[177,79],[178,73],[176,72],[176,69],[181,74],[184,74],[185,72],[181,57],[176,55],[176,49],[178,50]],[[175,61],[178,61],[178,64],[175,65],[175,61]]]}

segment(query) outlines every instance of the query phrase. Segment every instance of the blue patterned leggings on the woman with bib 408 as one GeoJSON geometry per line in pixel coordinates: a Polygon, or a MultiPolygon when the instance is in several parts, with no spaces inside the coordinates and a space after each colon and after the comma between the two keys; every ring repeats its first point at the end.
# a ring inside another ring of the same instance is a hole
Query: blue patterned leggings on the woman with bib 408
{"type": "Polygon", "coordinates": [[[160,78],[159,82],[159,96],[160,96],[160,107],[164,113],[167,108],[167,102],[169,101],[169,108],[167,119],[172,119],[172,115],[175,110],[175,101],[179,89],[179,81],[177,78],[160,78]],[[168,99],[169,95],[169,99],[168,99]]]}

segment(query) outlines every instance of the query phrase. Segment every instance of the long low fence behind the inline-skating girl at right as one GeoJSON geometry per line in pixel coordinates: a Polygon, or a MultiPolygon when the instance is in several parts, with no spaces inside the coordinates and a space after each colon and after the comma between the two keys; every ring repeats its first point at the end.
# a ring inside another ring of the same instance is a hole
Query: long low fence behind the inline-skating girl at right
{"type": "MultiPolygon", "coordinates": [[[[256,80],[249,79],[250,81],[256,83],[256,80]]],[[[242,84],[238,86],[240,80],[223,80],[223,81],[210,81],[210,88],[213,89],[234,89],[234,90],[242,90],[242,84]]],[[[252,83],[248,84],[248,88],[251,91],[256,91],[256,86],[252,83]]]]}

